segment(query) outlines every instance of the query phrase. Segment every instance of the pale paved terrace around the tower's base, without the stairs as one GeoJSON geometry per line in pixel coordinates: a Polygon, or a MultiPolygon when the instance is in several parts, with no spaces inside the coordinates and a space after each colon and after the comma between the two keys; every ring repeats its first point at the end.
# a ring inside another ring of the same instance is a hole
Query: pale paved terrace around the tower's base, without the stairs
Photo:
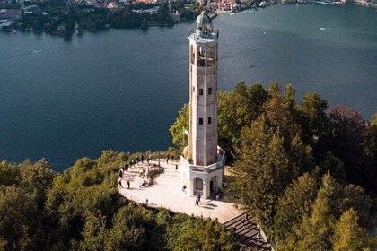
{"type": "MultiPolygon", "coordinates": [[[[139,173],[143,169],[147,169],[146,161],[143,164],[136,165],[135,168],[128,169],[122,177],[122,186],[119,191],[129,200],[136,203],[145,203],[148,199],[148,206],[163,207],[172,212],[182,212],[194,216],[217,218],[220,223],[229,221],[230,219],[241,214],[241,211],[234,207],[233,203],[225,203],[216,200],[201,199],[200,206],[195,205],[196,197],[189,197],[180,187],[180,168],[176,171],[175,164],[179,164],[178,160],[161,161],[164,167],[164,173],[153,179],[153,185],[147,187],[139,187],[143,183],[143,179],[139,177],[139,173]],[[130,182],[130,189],[127,189],[127,180],[130,182]]],[[[157,164],[157,161],[150,161],[150,165],[157,164]]]]}

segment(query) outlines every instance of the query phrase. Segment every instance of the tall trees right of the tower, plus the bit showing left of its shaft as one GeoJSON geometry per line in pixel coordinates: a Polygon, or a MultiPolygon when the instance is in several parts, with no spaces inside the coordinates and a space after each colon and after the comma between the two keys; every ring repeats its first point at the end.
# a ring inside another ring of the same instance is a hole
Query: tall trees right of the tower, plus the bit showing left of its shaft
{"type": "MultiPolygon", "coordinates": [[[[377,250],[377,115],[329,105],[318,93],[244,82],[218,96],[219,145],[230,153],[227,192],[278,250],[377,250]]],[[[184,105],[171,126],[187,145],[184,105]]]]}

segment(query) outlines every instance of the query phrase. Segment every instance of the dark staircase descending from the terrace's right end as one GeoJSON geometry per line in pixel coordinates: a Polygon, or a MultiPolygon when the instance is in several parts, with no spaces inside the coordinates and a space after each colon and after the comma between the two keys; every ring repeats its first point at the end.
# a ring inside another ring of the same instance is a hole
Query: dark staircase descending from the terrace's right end
{"type": "Polygon", "coordinates": [[[249,214],[248,221],[242,222],[244,215],[242,213],[223,224],[225,229],[233,231],[234,237],[241,243],[241,250],[273,250],[267,243],[267,240],[259,234],[257,224],[249,214]]]}

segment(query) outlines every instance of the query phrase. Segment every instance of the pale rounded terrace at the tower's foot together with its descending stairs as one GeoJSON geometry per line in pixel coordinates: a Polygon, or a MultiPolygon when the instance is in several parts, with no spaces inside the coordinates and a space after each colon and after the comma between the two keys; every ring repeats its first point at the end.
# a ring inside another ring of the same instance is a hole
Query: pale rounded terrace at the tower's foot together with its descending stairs
{"type": "MultiPolygon", "coordinates": [[[[158,165],[158,160],[150,161],[150,166],[158,165]]],[[[166,208],[171,212],[181,212],[196,217],[217,219],[226,229],[232,229],[233,234],[243,247],[257,247],[258,250],[274,250],[268,243],[263,230],[259,229],[253,219],[242,220],[244,214],[235,207],[234,203],[226,203],[221,200],[201,199],[196,205],[197,197],[190,197],[180,187],[180,163],[179,160],[161,160],[164,172],[153,177],[151,186],[140,187],[144,179],[140,177],[142,171],[148,169],[146,161],[123,172],[121,186],[118,186],[121,195],[136,203],[146,204],[154,208],[166,208]],[[178,169],[176,170],[176,165],[178,169]],[[130,182],[129,189],[127,181],[130,182]],[[236,230],[234,231],[234,228],[236,230]],[[261,235],[259,239],[259,234],[261,235]],[[257,238],[258,237],[258,238],[257,238]]]]}

